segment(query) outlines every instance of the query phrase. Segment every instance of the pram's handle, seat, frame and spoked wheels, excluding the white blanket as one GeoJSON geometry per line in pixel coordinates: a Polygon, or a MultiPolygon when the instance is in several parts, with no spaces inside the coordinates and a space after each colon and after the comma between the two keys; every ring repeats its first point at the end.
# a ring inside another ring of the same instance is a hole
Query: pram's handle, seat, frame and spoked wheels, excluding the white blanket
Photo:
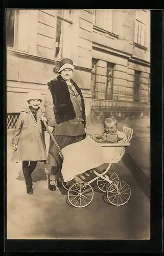
{"type": "MultiPolygon", "coordinates": [[[[63,154],[53,134],[50,133],[46,122],[43,121],[43,123],[46,127],[46,131],[49,133],[54,143],[56,144],[60,157],[63,159],[63,154]]],[[[121,206],[129,201],[131,196],[131,188],[129,184],[123,180],[119,180],[118,175],[110,169],[112,163],[118,163],[122,159],[127,146],[130,145],[133,130],[127,126],[124,126],[122,132],[127,136],[126,143],[101,143],[103,150],[107,151],[109,147],[112,147],[115,151],[114,156],[112,159],[110,159],[110,163],[108,163],[107,168],[103,170],[102,173],[99,171],[99,168],[96,167],[78,175],[77,177],[80,179],[78,182],[74,180],[64,182],[62,178],[62,186],[68,191],[67,199],[69,204],[77,208],[88,206],[93,200],[94,195],[93,188],[90,184],[95,181],[97,181],[98,189],[103,193],[106,193],[107,200],[112,205],[121,206]],[[91,176],[91,174],[95,174],[96,177],[85,182],[85,178],[88,178],[91,176]]]]}

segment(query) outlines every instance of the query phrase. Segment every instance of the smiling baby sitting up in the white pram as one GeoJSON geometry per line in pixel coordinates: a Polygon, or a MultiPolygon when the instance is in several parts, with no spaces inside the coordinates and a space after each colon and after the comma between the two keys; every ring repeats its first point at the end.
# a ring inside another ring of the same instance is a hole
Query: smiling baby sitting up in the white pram
{"type": "Polygon", "coordinates": [[[127,137],[124,133],[117,130],[118,122],[114,117],[109,117],[104,120],[104,131],[91,138],[100,143],[124,143],[127,137]]]}

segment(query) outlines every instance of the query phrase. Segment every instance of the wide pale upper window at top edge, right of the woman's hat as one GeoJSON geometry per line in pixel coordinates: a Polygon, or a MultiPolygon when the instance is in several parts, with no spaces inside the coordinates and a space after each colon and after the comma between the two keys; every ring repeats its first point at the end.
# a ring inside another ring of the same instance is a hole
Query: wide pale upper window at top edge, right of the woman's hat
{"type": "Polygon", "coordinates": [[[93,10],[93,25],[112,32],[113,10],[93,10]]]}

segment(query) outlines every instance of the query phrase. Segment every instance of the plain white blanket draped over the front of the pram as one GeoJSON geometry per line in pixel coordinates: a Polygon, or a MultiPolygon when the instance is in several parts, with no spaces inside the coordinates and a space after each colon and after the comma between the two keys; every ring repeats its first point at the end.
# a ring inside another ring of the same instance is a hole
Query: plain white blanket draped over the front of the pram
{"type": "Polygon", "coordinates": [[[89,169],[111,162],[115,148],[103,148],[100,143],[86,137],[80,142],[64,147],[61,152],[64,156],[61,173],[67,182],[89,169]]]}

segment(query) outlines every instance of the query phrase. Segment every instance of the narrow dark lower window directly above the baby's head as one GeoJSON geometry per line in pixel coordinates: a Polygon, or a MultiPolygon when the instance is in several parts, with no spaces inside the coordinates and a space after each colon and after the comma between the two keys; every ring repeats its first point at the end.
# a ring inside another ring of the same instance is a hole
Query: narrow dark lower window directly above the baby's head
{"type": "Polygon", "coordinates": [[[113,99],[113,69],[114,64],[107,63],[105,99],[113,99]]]}

